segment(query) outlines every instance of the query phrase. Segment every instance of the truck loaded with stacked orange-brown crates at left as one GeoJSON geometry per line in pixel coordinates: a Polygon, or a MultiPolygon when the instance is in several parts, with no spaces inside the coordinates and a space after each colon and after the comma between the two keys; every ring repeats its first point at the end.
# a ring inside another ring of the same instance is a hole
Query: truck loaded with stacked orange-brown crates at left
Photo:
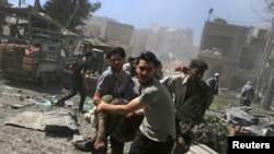
{"type": "Polygon", "coordinates": [[[0,69],[3,76],[46,86],[62,76],[66,58],[62,26],[35,8],[0,5],[0,69]]]}

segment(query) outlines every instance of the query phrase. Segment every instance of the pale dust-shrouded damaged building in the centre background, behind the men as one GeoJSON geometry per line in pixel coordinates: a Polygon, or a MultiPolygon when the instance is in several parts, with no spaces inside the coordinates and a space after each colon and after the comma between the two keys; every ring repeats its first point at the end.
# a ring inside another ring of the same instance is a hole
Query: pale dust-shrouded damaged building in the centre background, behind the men
{"type": "Polygon", "coordinates": [[[171,60],[169,55],[173,55],[180,61],[190,60],[196,56],[193,36],[194,32],[191,28],[152,24],[150,28],[135,29],[134,52],[138,55],[141,50],[156,51],[164,63],[171,60]]]}

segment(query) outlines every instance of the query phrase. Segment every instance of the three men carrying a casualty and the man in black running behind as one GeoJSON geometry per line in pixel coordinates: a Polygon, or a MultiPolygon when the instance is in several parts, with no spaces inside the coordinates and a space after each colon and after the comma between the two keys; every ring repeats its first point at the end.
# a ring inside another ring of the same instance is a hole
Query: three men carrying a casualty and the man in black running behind
{"type": "MultiPolygon", "coordinates": [[[[84,72],[91,60],[87,52],[76,62],[72,93],[80,92],[82,110],[87,82],[84,72]],[[84,64],[83,64],[84,63],[84,64]],[[78,80],[81,80],[79,82],[78,80]]],[[[112,154],[123,154],[124,143],[133,141],[129,154],[181,154],[191,145],[191,130],[210,106],[214,91],[202,80],[208,69],[201,59],[191,60],[187,72],[157,79],[160,60],[142,51],[134,62],[135,75],[123,69],[125,50],[117,47],[106,56],[110,67],[98,80],[93,103],[96,106],[96,134],[75,142],[80,151],[106,153],[110,137],[112,154]],[[109,96],[106,98],[106,96],[109,96]]],[[[73,83],[73,82],[72,82],[73,83]]]]}

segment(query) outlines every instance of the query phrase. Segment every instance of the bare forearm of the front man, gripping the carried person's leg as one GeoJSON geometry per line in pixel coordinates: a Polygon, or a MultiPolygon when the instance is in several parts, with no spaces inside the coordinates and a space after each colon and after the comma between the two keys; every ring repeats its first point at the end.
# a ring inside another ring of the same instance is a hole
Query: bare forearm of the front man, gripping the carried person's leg
{"type": "Polygon", "coordinates": [[[140,98],[137,97],[126,105],[112,105],[112,104],[106,104],[104,102],[100,102],[98,104],[96,110],[98,111],[106,110],[117,115],[128,115],[144,107],[145,105],[140,102],[140,98]]]}

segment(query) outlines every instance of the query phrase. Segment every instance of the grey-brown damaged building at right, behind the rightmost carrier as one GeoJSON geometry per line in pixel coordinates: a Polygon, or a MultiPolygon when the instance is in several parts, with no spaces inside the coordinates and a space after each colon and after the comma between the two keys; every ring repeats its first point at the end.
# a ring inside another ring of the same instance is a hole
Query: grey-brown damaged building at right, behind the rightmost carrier
{"type": "Polygon", "coordinates": [[[222,19],[205,23],[198,57],[209,69],[205,78],[220,73],[220,87],[241,88],[247,81],[260,84],[266,29],[228,24],[222,19]]]}

